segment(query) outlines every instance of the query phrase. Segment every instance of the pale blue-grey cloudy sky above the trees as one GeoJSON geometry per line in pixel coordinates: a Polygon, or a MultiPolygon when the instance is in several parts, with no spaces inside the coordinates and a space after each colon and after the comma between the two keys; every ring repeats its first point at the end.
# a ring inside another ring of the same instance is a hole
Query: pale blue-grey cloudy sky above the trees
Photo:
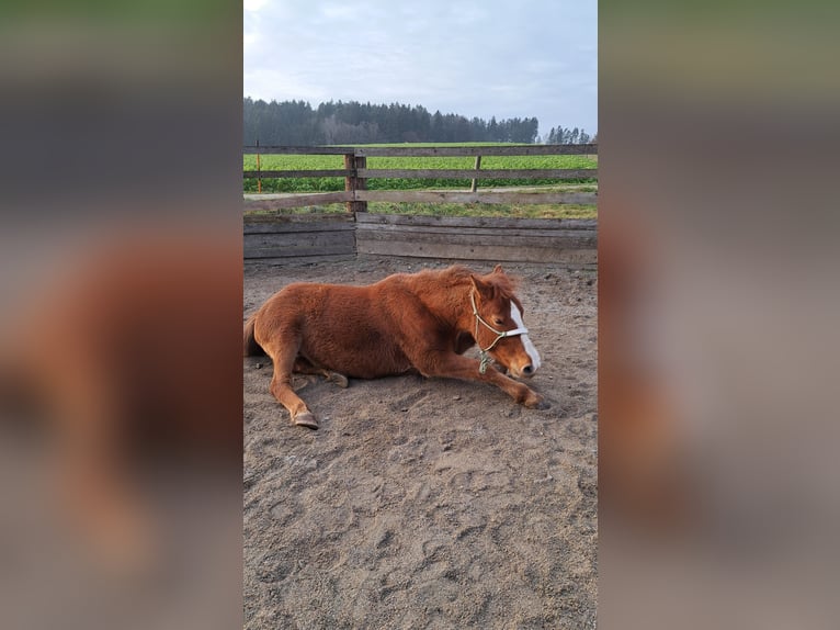
{"type": "Polygon", "coordinates": [[[598,131],[595,0],[243,0],[243,95],[598,131]]]}

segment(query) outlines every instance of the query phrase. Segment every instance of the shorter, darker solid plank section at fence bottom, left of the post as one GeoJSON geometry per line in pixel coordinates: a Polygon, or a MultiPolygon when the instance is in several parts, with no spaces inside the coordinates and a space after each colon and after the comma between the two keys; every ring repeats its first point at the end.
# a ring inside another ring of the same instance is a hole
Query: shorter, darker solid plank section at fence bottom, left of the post
{"type": "Polygon", "coordinates": [[[353,257],[355,223],[352,215],[246,215],[246,261],[353,257]]]}

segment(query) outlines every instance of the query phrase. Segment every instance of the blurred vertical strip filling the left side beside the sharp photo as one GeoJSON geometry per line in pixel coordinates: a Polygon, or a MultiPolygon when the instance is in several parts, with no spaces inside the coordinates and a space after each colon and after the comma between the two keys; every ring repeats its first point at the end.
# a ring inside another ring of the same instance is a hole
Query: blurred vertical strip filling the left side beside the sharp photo
{"type": "Polygon", "coordinates": [[[0,25],[0,626],[237,627],[241,8],[93,9],[0,25]]]}

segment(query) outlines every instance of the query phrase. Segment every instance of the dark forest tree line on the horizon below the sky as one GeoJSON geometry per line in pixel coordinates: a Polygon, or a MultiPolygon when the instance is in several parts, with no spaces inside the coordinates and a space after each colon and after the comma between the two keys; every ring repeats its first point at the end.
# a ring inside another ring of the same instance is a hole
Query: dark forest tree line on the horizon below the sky
{"type": "MultiPolygon", "coordinates": [[[[422,105],[371,104],[356,101],[320,103],[243,99],[245,144],[354,145],[372,143],[540,142],[535,117],[489,121],[458,114],[429,112],[422,105]]],[[[584,142],[582,130],[553,127],[546,142],[584,142]],[[568,132],[568,133],[567,133],[568,132]]]]}

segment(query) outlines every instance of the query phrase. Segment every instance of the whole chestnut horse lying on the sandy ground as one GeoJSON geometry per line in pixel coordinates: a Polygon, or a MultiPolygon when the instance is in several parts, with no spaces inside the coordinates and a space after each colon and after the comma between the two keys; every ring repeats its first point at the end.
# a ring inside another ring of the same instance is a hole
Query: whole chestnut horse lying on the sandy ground
{"type": "Polygon", "coordinates": [[[540,355],[522,322],[514,282],[497,266],[477,275],[454,266],[395,273],[367,286],[295,283],[272,295],[245,325],[245,355],[269,355],[271,392],[292,421],[318,421],[291,386],[292,373],[375,379],[417,371],[492,383],[526,407],[542,396],[490,368],[531,378],[540,355]],[[462,355],[478,345],[479,359],[462,355]]]}

